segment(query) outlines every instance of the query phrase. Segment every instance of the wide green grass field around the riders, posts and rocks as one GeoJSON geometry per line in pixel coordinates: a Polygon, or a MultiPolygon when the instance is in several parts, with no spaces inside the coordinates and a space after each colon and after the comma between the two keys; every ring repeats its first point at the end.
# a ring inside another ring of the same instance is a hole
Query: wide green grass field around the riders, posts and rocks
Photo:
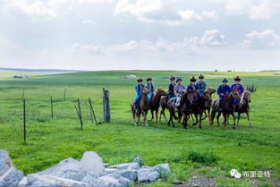
{"type": "MultiPolygon", "coordinates": [[[[67,157],[81,159],[84,151],[94,150],[104,162],[117,164],[140,156],[146,165],[168,162],[172,174],[149,186],[172,186],[174,180],[188,181],[197,172],[215,178],[217,186],[276,186],[280,180],[280,72],[203,72],[209,86],[217,88],[227,77],[242,77],[244,87],[255,84],[251,95],[252,128],[245,117],[233,130],[203,122],[202,129],[168,127],[165,122],[134,126],[130,100],[135,80],[128,74],[154,78],[157,88],[166,89],[171,75],[185,84],[198,72],[75,72],[34,74],[30,80],[13,80],[13,72],[0,72],[0,149],[7,149],[13,163],[24,174],[42,171],[67,157]],[[27,144],[22,135],[22,89],[27,102],[27,144]],[[103,121],[102,88],[110,90],[112,123],[95,125],[89,119],[87,99],[94,101],[98,120],[103,121]],[[66,101],[64,102],[64,89],[66,101]],[[50,97],[55,117],[50,117],[50,97]],[[80,129],[73,107],[81,98],[84,129],[80,129]],[[205,167],[208,166],[208,167],[205,167]],[[231,169],[270,171],[270,178],[233,179],[231,169]]],[[[215,96],[216,97],[216,96],[215,96]]]]}

